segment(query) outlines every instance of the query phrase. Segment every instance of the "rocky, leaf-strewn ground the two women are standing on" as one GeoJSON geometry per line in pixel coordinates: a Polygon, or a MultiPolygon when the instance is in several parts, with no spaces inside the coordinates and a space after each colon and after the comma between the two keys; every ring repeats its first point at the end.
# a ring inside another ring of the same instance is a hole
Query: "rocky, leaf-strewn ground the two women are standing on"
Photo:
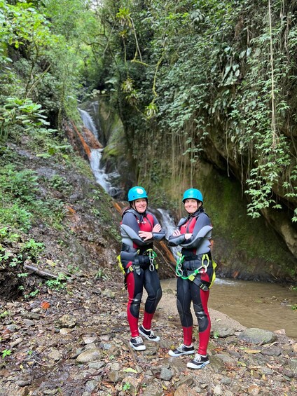
{"type": "MultiPolygon", "coordinates": [[[[285,334],[246,329],[211,311],[210,364],[187,369],[174,291],[165,289],[154,330],[159,343],[128,344],[121,282],[73,274],[59,291],[1,303],[1,396],[296,395],[297,343],[285,334]]],[[[198,334],[195,332],[195,346],[198,334]]]]}

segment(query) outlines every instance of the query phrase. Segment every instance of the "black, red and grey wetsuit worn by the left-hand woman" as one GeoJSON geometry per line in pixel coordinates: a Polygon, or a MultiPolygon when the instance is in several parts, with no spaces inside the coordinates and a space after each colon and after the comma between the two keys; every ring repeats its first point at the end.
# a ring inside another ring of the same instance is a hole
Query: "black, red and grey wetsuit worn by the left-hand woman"
{"type": "Polygon", "coordinates": [[[144,320],[142,325],[145,329],[151,329],[151,321],[156,311],[158,302],[162,296],[162,289],[158,273],[148,257],[148,249],[152,249],[153,240],[161,240],[165,232],[152,232],[158,220],[151,212],[139,214],[133,208],[123,213],[120,224],[122,236],[122,250],[120,261],[125,270],[125,285],[129,295],[127,304],[127,318],[130,325],[131,336],[139,336],[138,319],[139,308],[143,288],[146,289],[148,297],[144,306],[144,320]],[[151,240],[142,240],[139,231],[148,231],[153,234],[151,240]],[[131,271],[131,268],[132,271],[131,271]]]}

